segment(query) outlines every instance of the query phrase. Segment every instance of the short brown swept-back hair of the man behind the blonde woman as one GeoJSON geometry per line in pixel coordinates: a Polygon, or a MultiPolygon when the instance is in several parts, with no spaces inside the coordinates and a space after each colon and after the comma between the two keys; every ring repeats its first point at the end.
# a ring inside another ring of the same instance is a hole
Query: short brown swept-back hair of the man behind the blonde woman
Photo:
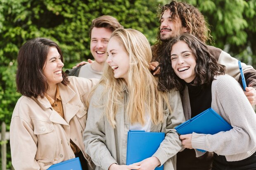
{"type": "Polygon", "coordinates": [[[103,15],[92,20],[92,25],[90,26],[90,37],[92,34],[92,28],[107,28],[112,32],[117,28],[123,28],[123,26],[117,21],[116,18],[109,15],[103,15]]]}

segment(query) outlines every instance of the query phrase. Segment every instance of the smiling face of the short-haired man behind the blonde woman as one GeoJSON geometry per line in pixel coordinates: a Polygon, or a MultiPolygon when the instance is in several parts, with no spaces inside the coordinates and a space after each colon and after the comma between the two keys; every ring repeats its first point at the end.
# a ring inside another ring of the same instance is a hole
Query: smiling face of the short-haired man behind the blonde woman
{"type": "Polygon", "coordinates": [[[90,51],[95,62],[104,63],[107,58],[106,50],[112,31],[107,28],[92,28],[90,51]]]}

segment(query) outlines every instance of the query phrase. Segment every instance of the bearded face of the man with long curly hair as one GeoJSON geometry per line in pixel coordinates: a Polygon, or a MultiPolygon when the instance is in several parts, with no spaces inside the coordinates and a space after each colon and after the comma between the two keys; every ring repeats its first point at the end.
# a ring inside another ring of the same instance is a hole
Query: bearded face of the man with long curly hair
{"type": "Polygon", "coordinates": [[[181,25],[181,21],[177,17],[175,17],[175,21],[171,19],[170,9],[164,11],[160,21],[161,41],[168,41],[172,37],[187,32],[187,28],[181,25]]]}

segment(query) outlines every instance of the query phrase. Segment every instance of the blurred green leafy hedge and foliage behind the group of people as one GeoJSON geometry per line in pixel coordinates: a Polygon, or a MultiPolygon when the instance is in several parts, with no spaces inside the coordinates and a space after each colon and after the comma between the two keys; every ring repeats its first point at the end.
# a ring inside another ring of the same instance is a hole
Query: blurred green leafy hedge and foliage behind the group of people
{"type": "MultiPolygon", "coordinates": [[[[256,0],[186,0],[199,8],[219,47],[256,68],[256,0]]],[[[9,123],[20,97],[16,92],[17,53],[24,42],[47,37],[59,44],[65,69],[92,58],[89,28],[101,15],[116,17],[125,28],[156,42],[156,10],[169,0],[0,0],[0,123],[9,123]]],[[[9,145],[9,144],[8,144],[9,145]]],[[[10,168],[8,147],[7,168],[10,168]]]]}

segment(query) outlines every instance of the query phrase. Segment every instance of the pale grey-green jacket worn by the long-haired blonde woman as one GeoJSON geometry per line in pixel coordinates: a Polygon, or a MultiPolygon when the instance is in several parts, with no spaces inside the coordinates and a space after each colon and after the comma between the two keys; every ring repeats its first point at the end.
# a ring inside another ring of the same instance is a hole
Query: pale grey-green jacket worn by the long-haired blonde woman
{"type": "MultiPolygon", "coordinates": [[[[99,86],[93,94],[88,109],[88,119],[83,140],[85,152],[92,158],[96,165],[96,170],[108,170],[113,163],[126,165],[127,134],[129,131],[129,120],[124,114],[128,93],[122,92],[121,105],[116,113],[116,128],[112,128],[107,117],[103,114],[103,107],[108,98],[100,98],[103,86],[99,86]],[[99,101],[99,99],[101,99],[99,101]]],[[[176,169],[175,155],[181,149],[181,141],[178,133],[174,129],[180,123],[185,121],[182,103],[178,91],[171,91],[168,95],[169,104],[172,112],[165,106],[164,123],[151,124],[151,132],[164,132],[166,134],[164,141],[153,156],[156,156],[161,165],[164,164],[164,170],[176,169]]]]}

